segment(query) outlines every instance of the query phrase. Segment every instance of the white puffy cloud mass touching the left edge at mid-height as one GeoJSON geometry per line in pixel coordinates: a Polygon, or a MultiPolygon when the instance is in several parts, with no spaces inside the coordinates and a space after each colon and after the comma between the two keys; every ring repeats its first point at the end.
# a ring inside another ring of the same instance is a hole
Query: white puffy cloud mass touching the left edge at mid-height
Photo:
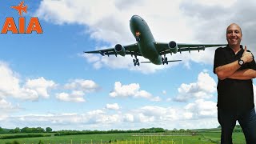
{"type": "Polygon", "coordinates": [[[42,98],[49,98],[48,91],[54,88],[55,83],[45,78],[28,79],[22,86],[18,74],[16,74],[10,67],[0,62],[0,98],[13,97],[24,100],[38,100],[42,98]]]}

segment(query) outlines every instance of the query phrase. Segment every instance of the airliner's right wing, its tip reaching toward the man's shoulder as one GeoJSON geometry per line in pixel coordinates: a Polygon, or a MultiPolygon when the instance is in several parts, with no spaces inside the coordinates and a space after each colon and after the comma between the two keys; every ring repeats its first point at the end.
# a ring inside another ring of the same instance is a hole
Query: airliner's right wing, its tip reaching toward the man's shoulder
{"type": "MultiPolygon", "coordinates": [[[[216,47],[216,46],[226,46],[227,44],[187,44],[187,43],[177,43],[178,50],[177,52],[182,53],[182,51],[192,51],[192,50],[205,50],[208,47],[216,47]]],[[[154,46],[156,46],[158,53],[169,54],[173,53],[170,51],[168,43],[166,42],[154,42],[154,46]]]]}

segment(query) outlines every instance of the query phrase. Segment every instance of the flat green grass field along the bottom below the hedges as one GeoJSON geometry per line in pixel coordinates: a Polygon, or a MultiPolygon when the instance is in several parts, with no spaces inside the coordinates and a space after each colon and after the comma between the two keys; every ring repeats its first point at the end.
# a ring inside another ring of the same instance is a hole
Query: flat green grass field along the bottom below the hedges
{"type": "MultiPolygon", "coordinates": [[[[46,133],[43,133],[46,134],[46,133]]],[[[0,134],[0,137],[8,134],[0,134]]],[[[12,134],[9,134],[12,135],[12,134]]],[[[54,136],[41,138],[15,138],[1,139],[0,144],[17,141],[20,144],[36,144],[40,140],[44,144],[90,144],[90,143],[113,143],[113,144],[210,144],[220,143],[220,132],[198,132],[197,134],[79,134],[68,136],[54,136]]],[[[234,144],[246,143],[242,133],[233,134],[234,144]]]]}

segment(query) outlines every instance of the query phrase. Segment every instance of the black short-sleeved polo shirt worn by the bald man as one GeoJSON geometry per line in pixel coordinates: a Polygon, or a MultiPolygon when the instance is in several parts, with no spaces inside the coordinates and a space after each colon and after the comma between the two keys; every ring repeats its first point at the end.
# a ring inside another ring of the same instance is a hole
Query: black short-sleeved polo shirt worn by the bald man
{"type": "MultiPolygon", "coordinates": [[[[230,46],[219,47],[215,50],[214,55],[214,74],[215,68],[223,66],[234,61],[238,61],[242,57],[244,50],[234,51],[230,46]]],[[[256,70],[256,64],[253,60],[250,63],[245,63],[239,70],[253,69],[256,70]]],[[[244,111],[254,108],[254,90],[252,79],[238,80],[226,78],[224,80],[218,79],[218,108],[222,110],[244,111]]]]}

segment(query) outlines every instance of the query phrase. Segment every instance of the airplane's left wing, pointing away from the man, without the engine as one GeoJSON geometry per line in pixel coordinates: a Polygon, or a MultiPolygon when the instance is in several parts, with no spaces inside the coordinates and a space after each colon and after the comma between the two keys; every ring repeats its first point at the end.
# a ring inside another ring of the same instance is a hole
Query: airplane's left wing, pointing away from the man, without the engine
{"type": "MultiPolygon", "coordinates": [[[[126,46],[123,46],[123,47],[126,50],[126,54],[142,56],[142,53],[138,49],[138,44],[137,43],[134,43],[134,44],[131,44],[131,45],[126,45],[126,46]]],[[[102,56],[104,56],[104,55],[107,55],[107,56],[116,55],[117,56],[117,53],[115,52],[114,48],[104,49],[104,50],[84,51],[84,53],[102,54],[102,56]]]]}

